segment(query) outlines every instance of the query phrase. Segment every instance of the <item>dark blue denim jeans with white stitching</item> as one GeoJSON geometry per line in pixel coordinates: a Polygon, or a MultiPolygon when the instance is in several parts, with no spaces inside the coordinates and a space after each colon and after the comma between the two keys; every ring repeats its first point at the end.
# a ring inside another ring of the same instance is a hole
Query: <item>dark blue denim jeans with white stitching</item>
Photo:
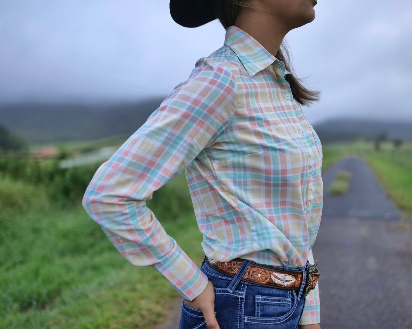
{"type": "MultiPolygon", "coordinates": [[[[300,291],[284,290],[243,282],[249,264],[250,260],[244,260],[236,276],[231,277],[202,263],[201,271],[215,288],[215,316],[220,329],[296,329],[305,304],[303,287],[300,291]]],[[[302,272],[309,265],[307,262],[300,269],[288,269],[302,272]]],[[[207,329],[202,311],[183,301],[179,329],[207,329]]]]}

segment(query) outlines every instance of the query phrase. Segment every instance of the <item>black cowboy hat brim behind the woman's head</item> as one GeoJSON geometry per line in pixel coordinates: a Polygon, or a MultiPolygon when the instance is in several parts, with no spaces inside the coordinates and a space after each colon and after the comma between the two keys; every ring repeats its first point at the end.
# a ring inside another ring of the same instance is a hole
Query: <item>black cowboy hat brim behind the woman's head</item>
{"type": "Polygon", "coordinates": [[[216,19],[213,0],[170,0],[173,21],[185,28],[197,28],[216,19]]]}

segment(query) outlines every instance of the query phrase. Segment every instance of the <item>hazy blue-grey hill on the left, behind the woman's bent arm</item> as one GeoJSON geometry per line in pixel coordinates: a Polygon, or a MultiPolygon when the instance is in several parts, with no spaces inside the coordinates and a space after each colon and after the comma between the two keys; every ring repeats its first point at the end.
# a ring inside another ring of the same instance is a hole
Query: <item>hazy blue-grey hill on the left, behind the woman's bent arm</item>
{"type": "Polygon", "coordinates": [[[0,124],[22,134],[30,144],[97,139],[133,134],[165,97],[133,104],[13,104],[0,105],[0,124]]]}

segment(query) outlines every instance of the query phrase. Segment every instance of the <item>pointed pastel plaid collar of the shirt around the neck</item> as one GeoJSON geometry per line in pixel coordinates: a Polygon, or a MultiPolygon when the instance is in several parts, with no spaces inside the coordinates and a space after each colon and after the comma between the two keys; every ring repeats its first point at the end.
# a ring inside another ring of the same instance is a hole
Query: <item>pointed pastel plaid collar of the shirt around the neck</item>
{"type": "Polygon", "coordinates": [[[277,60],[275,56],[263,48],[254,37],[235,25],[227,28],[224,44],[236,53],[250,77],[265,70],[275,61],[276,66],[281,68],[282,71],[285,71],[286,74],[290,73],[285,70],[283,62],[277,60]]]}

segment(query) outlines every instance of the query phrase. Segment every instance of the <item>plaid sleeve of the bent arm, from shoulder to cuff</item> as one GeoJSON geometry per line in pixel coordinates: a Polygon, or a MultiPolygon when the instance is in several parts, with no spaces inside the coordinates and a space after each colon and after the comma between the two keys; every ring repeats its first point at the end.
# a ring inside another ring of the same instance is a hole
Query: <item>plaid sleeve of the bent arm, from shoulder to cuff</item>
{"type": "Polygon", "coordinates": [[[229,68],[199,59],[189,78],[98,168],[82,201],[129,262],[154,267],[188,300],[206,288],[208,278],[166,234],[145,200],[216,141],[236,102],[229,68]]]}

